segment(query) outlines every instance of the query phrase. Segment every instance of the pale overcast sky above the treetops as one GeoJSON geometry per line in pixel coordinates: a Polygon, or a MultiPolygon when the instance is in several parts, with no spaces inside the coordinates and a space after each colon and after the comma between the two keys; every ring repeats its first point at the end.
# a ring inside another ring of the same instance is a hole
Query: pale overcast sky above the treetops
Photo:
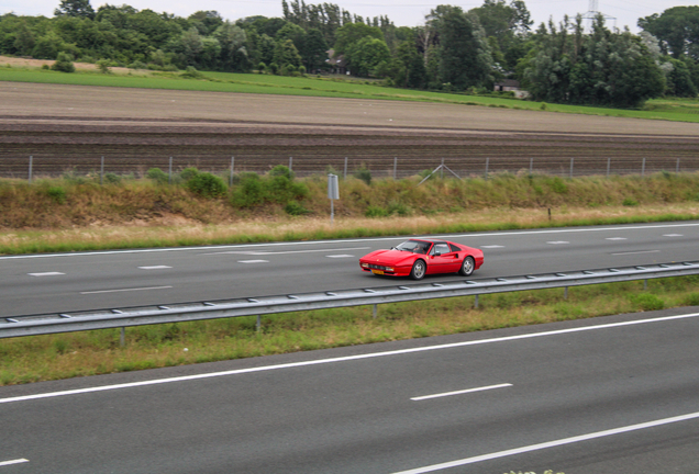
{"type": "MultiPolygon", "coordinates": [[[[510,0],[507,0],[508,3],[510,0]]],[[[464,10],[480,7],[482,0],[450,1],[450,0],[306,0],[310,3],[335,3],[340,8],[362,16],[388,18],[397,26],[418,26],[424,24],[424,16],[439,4],[452,4],[464,10]]],[[[688,7],[698,4],[697,0],[524,0],[526,8],[534,20],[533,29],[540,23],[553,18],[555,23],[563,20],[565,14],[574,18],[577,13],[585,14],[595,10],[603,13],[608,20],[608,26],[624,26],[637,33],[636,22],[639,18],[653,13],[662,13],[673,7],[688,7]]],[[[0,0],[0,13],[14,12],[15,14],[53,16],[54,10],[60,0],[0,0]]],[[[168,12],[178,16],[189,16],[197,10],[215,10],[225,20],[235,21],[245,16],[264,15],[281,16],[281,0],[91,0],[92,8],[97,10],[101,4],[126,3],[138,10],[151,9],[155,12],[168,12]]]]}

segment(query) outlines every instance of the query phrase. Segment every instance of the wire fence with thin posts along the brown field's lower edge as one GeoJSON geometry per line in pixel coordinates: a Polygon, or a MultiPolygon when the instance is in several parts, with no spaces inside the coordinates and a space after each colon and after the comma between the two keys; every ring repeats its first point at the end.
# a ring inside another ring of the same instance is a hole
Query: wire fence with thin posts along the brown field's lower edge
{"type": "Polygon", "coordinates": [[[158,168],[170,177],[185,168],[195,167],[222,177],[252,171],[265,173],[278,165],[288,166],[297,177],[325,174],[332,172],[340,177],[354,174],[358,170],[369,170],[375,178],[426,177],[436,173],[443,178],[475,178],[496,173],[528,172],[530,174],[547,174],[558,177],[581,176],[622,176],[651,174],[665,172],[694,172],[699,170],[699,157],[647,157],[647,158],[581,158],[581,157],[529,157],[529,158],[458,158],[442,159],[400,157],[367,158],[357,156],[279,156],[278,158],[260,158],[255,156],[221,157],[162,157],[162,158],[110,158],[98,156],[90,158],[55,158],[32,155],[19,158],[0,159],[0,177],[26,179],[30,182],[37,178],[59,176],[91,176],[106,179],[132,176],[141,178],[148,169],[158,168]]]}

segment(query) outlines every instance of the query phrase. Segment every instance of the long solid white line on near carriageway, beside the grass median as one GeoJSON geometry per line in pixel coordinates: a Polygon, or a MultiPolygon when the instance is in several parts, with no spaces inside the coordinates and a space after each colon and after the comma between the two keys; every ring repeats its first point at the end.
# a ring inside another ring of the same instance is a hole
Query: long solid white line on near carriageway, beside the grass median
{"type": "Polygon", "coordinates": [[[149,381],[132,382],[132,383],[115,384],[115,385],[103,385],[103,386],[78,388],[78,390],[64,391],[64,392],[49,392],[49,393],[43,393],[43,394],[23,395],[23,396],[10,397],[10,398],[0,398],[0,404],[12,403],[12,402],[26,402],[26,400],[38,399],[38,398],[53,398],[57,396],[77,395],[77,394],[86,394],[86,393],[93,393],[93,392],[106,392],[106,391],[121,390],[121,388],[133,388],[133,387],[147,386],[147,385],[159,385],[159,384],[173,383],[173,382],[213,379],[213,377],[220,377],[220,376],[240,375],[240,374],[255,373],[255,372],[267,372],[267,371],[274,371],[274,370],[300,368],[300,366],[322,365],[328,363],[348,362],[348,361],[355,361],[355,360],[374,359],[374,358],[389,357],[389,356],[402,356],[408,353],[426,352],[426,351],[433,351],[433,350],[455,349],[455,348],[462,348],[462,347],[468,347],[468,346],[508,342],[508,341],[532,339],[532,338],[539,338],[539,337],[585,332],[590,330],[611,329],[611,328],[618,328],[618,327],[636,326],[636,325],[644,325],[644,324],[652,324],[652,323],[666,323],[672,320],[683,320],[683,319],[689,319],[695,317],[699,317],[699,313],[691,313],[691,314],[677,315],[677,316],[664,316],[658,318],[639,319],[639,320],[631,320],[631,321],[623,321],[623,323],[610,323],[610,324],[598,325],[598,326],[584,326],[578,328],[558,329],[558,330],[552,330],[552,331],[533,332],[533,334],[525,334],[525,335],[518,335],[518,336],[506,336],[506,337],[492,338],[492,339],[479,339],[474,341],[453,342],[453,343],[440,345],[440,346],[426,346],[426,347],[418,347],[418,348],[411,348],[411,349],[400,349],[400,350],[386,351],[386,352],[370,352],[366,354],[346,356],[346,357],[340,357],[340,358],[333,358],[333,359],[319,359],[319,360],[302,361],[302,362],[291,362],[291,363],[278,364],[278,365],[263,365],[257,368],[237,369],[237,370],[223,371],[223,372],[210,372],[210,373],[185,375],[185,376],[170,377],[170,379],[156,379],[156,380],[149,380],[149,381]]]}

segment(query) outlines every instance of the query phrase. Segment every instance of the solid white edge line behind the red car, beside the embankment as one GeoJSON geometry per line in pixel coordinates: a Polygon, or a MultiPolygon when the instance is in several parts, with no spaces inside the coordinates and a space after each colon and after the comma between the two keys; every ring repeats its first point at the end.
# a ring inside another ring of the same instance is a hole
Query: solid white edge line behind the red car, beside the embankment
{"type": "MultiPolygon", "coordinates": [[[[664,224],[664,225],[646,225],[646,226],[622,226],[622,227],[592,227],[592,228],[565,228],[565,229],[546,229],[546,230],[512,230],[512,232],[498,232],[498,233],[470,233],[470,234],[448,234],[448,235],[425,235],[414,236],[414,238],[482,238],[482,237],[507,237],[518,235],[539,235],[539,234],[570,234],[570,233],[595,233],[595,232],[620,232],[620,230],[644,230],[644,229],[669,229],[678,227],[699,227],[699,224],[664,224]]],[[[260,247],[280,247],[280,246],[308,246],[308,245],[333,245],[333,244],[355,244],[367,241],[396,241],[400,238],[397,237],[379,237],[379,238],[363,238],[363,239],[344,239],[344,240],[303,240],[291,242],[273,242],[273,244],[241,244],[230,246],[209,246],[209,247],[170,247],[170,248],[154,248],[154,249],[135,249],[135,250],[106,250],[93,252],[67,252],[67,253],[38,253],[30,256],[4,256],[0,257],[0,260],[16,260],[16,259],[35,259],[35,258],[52,258],[52,257],[86,257],[86,256],[101,256],[101,255],[119,255],[119,253],[153,253],[153,252],[170,252],[170,251],[201,251],[201,250],[221,250],[224,248],[260,248],[260,247]]]]}

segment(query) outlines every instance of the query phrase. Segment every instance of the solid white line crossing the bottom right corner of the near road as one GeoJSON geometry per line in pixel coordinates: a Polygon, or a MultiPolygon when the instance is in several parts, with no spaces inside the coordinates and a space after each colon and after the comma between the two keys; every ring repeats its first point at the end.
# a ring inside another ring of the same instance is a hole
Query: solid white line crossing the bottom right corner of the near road
{"type": "Polygon", "coordinates": [[[604,431],[597,431],[597,432],[581,435],[581,436],[572,437],[572,438],[564,438],[564,439],[559,439],[555,441],[540,443],[540,444],[531,444],[531,445],[515,448],[515,449],[511,449],[507,451],[500,451],[500,452],[495,452],[490,454],[482,454],[482,455],[477,455],[474,458],[466,458],[463,460],[451,461],[451,462],[445,462],[441,464],[433,464],[430,466],[418,467],[418,469],[408,470],[408,471],[400,471],[393,474],[423,474],[429,472],[442,471],[450,467],[457,467],[457,466],[463,466],[466,464],[475,464],[475,463],[479,463],[484,461],[496,460],[499,458],[508,458],[508,456],[523,454],[523,453],[528,453],[532,451],[540,451],[540,450],[544,450],[548,448],[556,448],[561,445],[573,444],[573,443],[589,441],[589,440],[599,439],[599,438],[606,438],[606,437],[610,437],[614,435],[622,435],[622,433],[626,433],[631,431],[639,431],[642,429],[655,428],[663,425],[670,425],[670,424],[687,421],[687,420],[697,419],[697,418],[699,418],[699,413],[691,413],[691,414],[680,415],[680,416],[676,416],[672,418],[663,418],[659,420],[647,421],[647,422],[637,424],[637,425],[630,425],[626,427],[614,428],[614,429],[604,430],[604,431]]]}

